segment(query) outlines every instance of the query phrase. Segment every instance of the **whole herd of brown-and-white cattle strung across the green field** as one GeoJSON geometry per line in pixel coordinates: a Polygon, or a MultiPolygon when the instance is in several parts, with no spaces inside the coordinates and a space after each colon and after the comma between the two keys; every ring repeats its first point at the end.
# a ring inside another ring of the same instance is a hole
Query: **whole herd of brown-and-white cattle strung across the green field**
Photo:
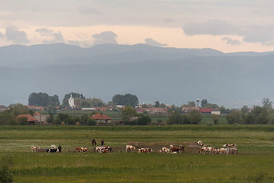
{"type": "MultiPolygon", "coordinates": [[[[207,145],[203,144],[202,141],[198,141],[197,145],[195,145],[197,149],[199,149],[199,154],[237,154],[238,149],[236,144],[225,144],[222,148],[215,148],[215,147],[208,147],[207,145]]],[[[56,145],[51,145],[50,148],[40,148],[32,146],[31,147],[33,152],[61,152],[62,147],[59,145],[56,148],[56,145]]],[[[75,147],[75,152],[87,152],[87,147],[75,147]]],[[[99,153],[108,153],[112,152],[112,147],[108,146],[98,146],[93,148],[93,151],[99,153]]],[[[121,150],[119,150],[121,152],[121,150]]],[[[126,145],[125,152],[134,152],[137,151],[138,153],[151,153],[153,152],[152,148],[146,147],[135,147],[134,145],[126,145]]],[[[183,145],[179,145],[179,147],[175,147],[174,145],[169,145],[168,147],[162,147],[162,149],[157,151],[158,153],[166,153],[166,154],[180,154],[185,152],[185,147],[183,145]]]]}

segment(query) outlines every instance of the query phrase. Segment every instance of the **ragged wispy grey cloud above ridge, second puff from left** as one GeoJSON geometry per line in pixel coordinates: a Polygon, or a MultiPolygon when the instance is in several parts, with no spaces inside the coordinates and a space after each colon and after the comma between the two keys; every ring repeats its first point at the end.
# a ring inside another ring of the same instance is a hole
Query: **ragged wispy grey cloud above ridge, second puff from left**
{"type": "Polygon", "coordinates": [[[57,43],[57,42],[64,42],[64,36],[60,31],[54,32],[51,29],[47,28],[40,28],[36,29],[36,32],[40,34],[40,36],[46,36],[49,39],[43,40],[45,44],[57,43]]]}

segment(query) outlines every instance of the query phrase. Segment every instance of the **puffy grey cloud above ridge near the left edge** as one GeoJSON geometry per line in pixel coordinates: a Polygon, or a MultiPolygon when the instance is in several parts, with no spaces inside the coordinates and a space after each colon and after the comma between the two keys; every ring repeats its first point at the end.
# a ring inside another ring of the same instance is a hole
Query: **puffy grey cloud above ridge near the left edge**
{"type": "Polygon", "coordinates": [[[14,43],[27,43],[29,40],[27,39],[27,34],[23,31],[19,31],[16,27],[8,27],[5,28],[5,38],[8,41],[12,41],[14,43]]]}

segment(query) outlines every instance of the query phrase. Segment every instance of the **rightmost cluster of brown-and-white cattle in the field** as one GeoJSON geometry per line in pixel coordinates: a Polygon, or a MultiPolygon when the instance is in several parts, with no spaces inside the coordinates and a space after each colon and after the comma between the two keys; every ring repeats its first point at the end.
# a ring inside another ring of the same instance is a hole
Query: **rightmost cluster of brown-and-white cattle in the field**
{"type": "Polygon", "coordinates": [[[225,144],[223,147],[225,148],[214,148],[214,147],[207,147],[204,145],[202,141],[198,141],[197,145],[199,147],[200,154],[237,154],[238,149],[236,144],[225,144]]]}

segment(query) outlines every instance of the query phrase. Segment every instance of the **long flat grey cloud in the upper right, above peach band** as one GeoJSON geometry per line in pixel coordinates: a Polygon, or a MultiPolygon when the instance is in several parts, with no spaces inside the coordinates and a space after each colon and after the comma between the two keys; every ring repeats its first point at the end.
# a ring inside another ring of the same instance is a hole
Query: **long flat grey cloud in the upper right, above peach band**
{"type": "Polygon", "coordinates": [[[184,25],[183,30],[188,36],[199,34],[210,34],[214,36],[242,34],[242,29],[239,29],[227,21],[216,19],[206,23],[188,23],[184,25]]]}

